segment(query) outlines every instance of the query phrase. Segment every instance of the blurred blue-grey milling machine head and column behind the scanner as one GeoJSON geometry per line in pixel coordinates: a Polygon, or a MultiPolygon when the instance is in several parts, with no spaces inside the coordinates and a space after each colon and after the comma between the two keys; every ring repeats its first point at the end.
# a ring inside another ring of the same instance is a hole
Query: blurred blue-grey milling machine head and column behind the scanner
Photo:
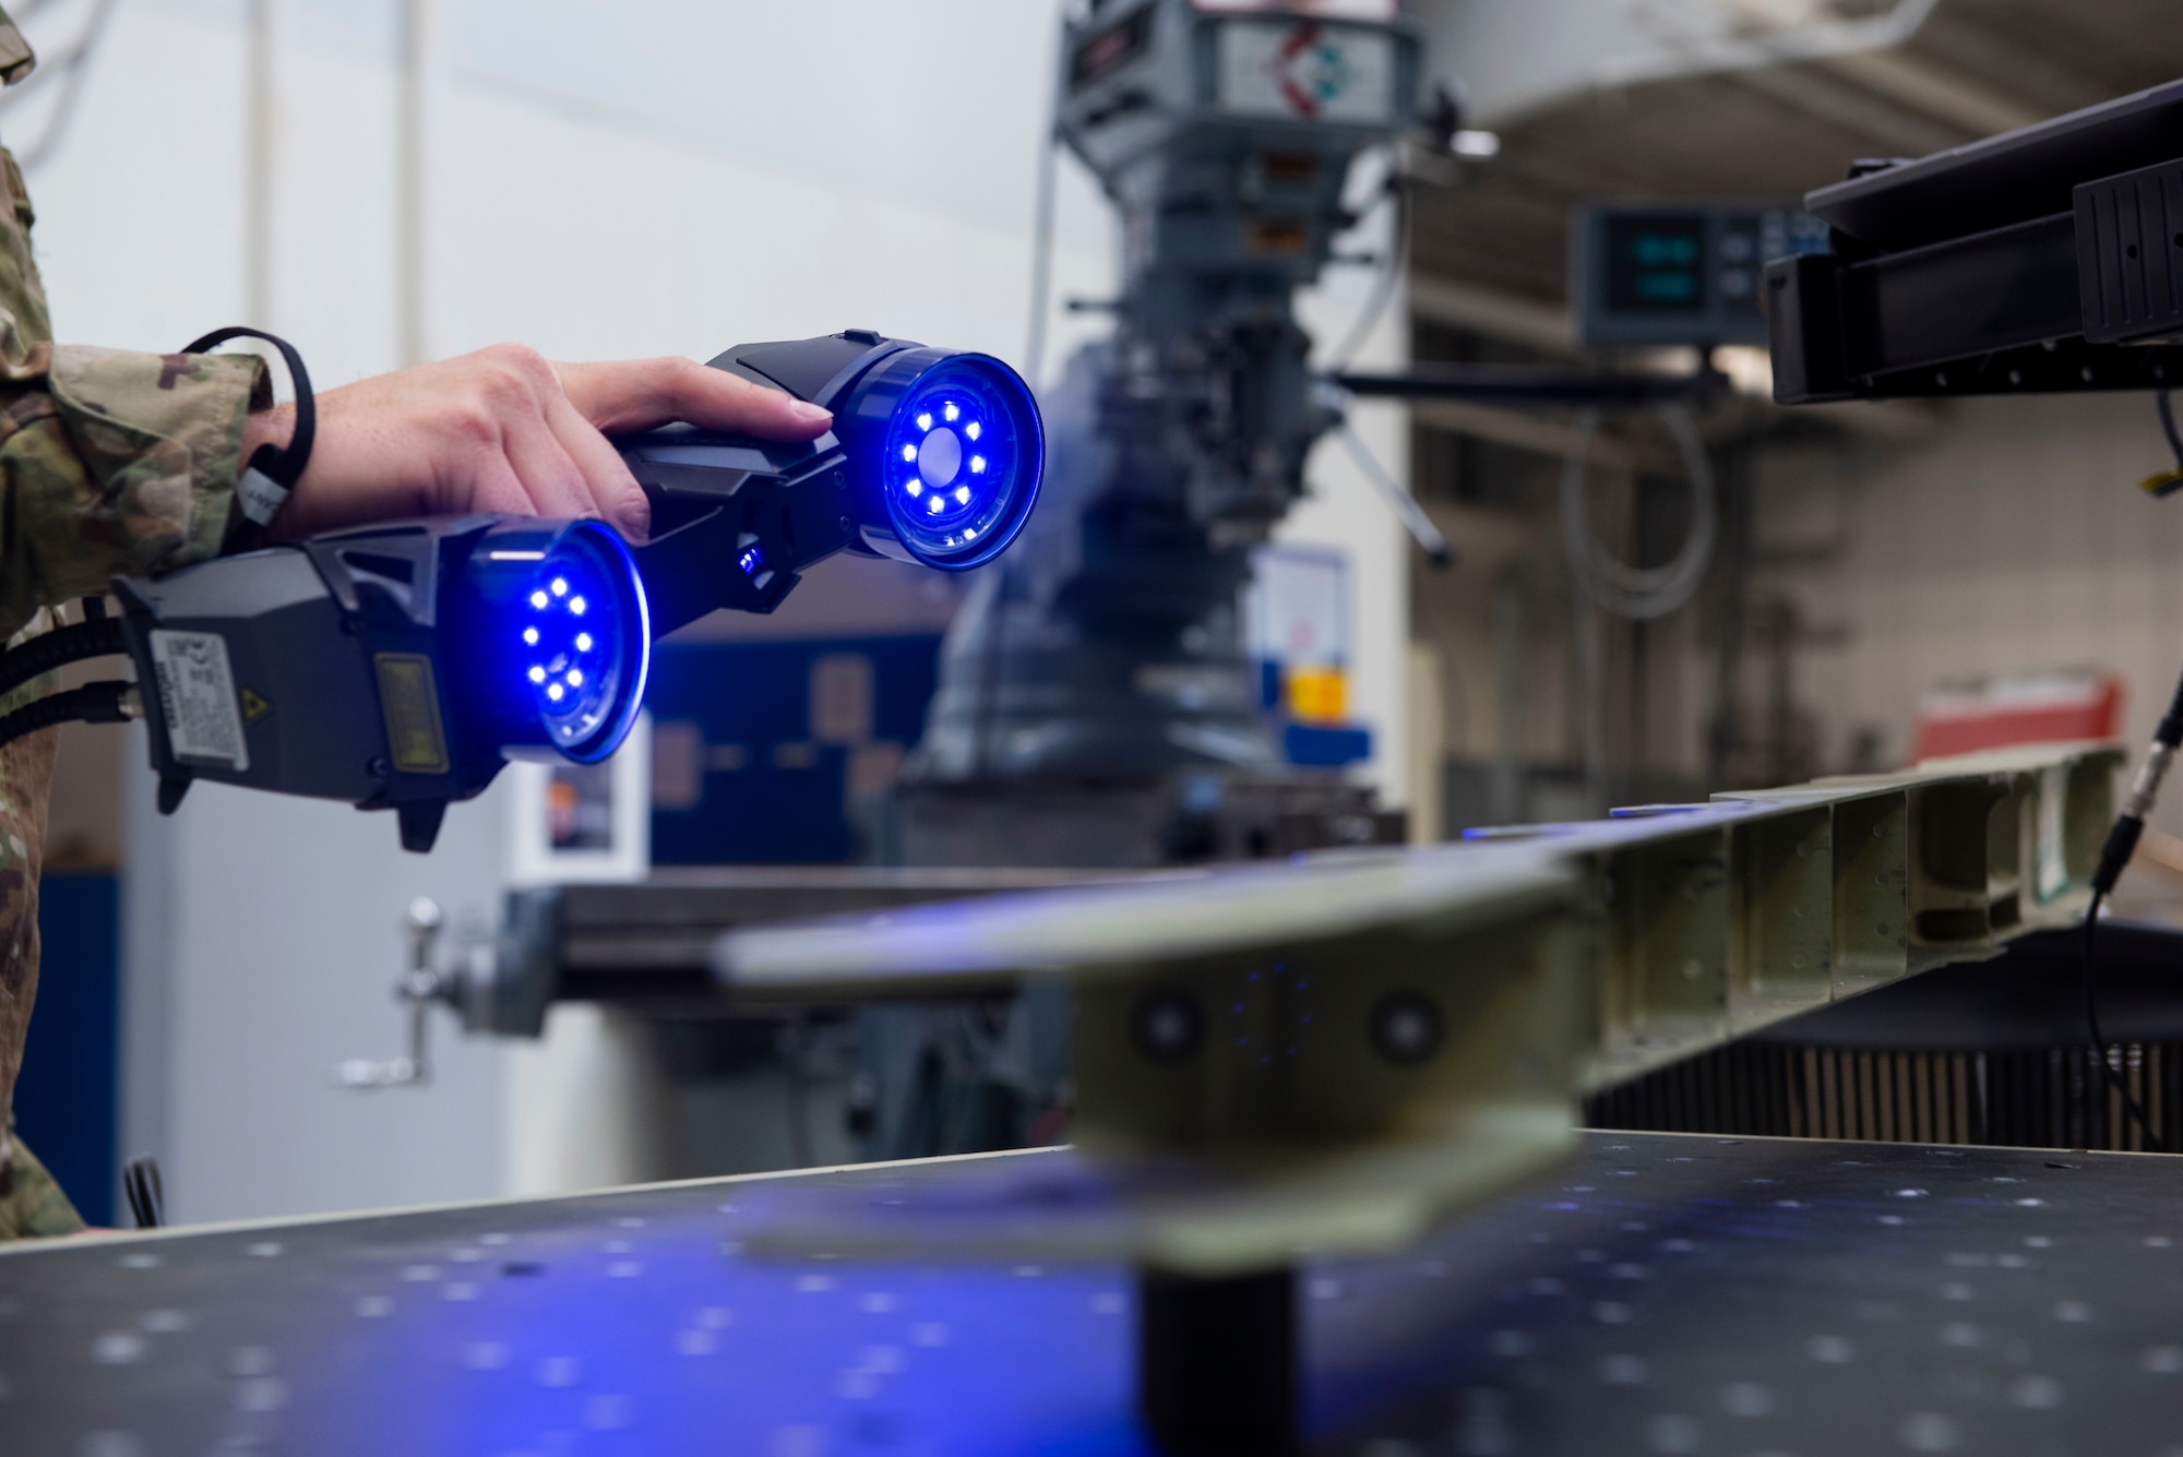
{"type": "Polygon", "coordinates": [[[1096,0],[1067,24],[1054,142],[1120,214],[1122,292],[1043,401],[1046,504],[947,635],[910,864],[1401,838],[1369,790],[1284,757],[1238,593],[1343,428],[1295,297],[1375,205],[1345,196],[1351,164],[1419,127],[1419,55],[1395,0],[1096,0]]]}

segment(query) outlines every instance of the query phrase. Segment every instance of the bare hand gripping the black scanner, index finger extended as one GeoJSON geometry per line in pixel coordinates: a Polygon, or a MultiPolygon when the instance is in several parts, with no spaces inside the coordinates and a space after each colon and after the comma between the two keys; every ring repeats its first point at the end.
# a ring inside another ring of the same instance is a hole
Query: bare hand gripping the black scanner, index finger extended
{"type": "MultiPolygon", "coordinates": [[[[694,360],[552,364],[524,345],[493,345],[319,395],[310,465],[271,530],[293,539],[395,517],[504,510],[600,517],[642,541],[651,506],[603,432],[670,421],[810,441],[834,417],[694,360]]],[[[242,458],[286,443],[293,430],[293,406],[251,414],[242,458]]]]}

